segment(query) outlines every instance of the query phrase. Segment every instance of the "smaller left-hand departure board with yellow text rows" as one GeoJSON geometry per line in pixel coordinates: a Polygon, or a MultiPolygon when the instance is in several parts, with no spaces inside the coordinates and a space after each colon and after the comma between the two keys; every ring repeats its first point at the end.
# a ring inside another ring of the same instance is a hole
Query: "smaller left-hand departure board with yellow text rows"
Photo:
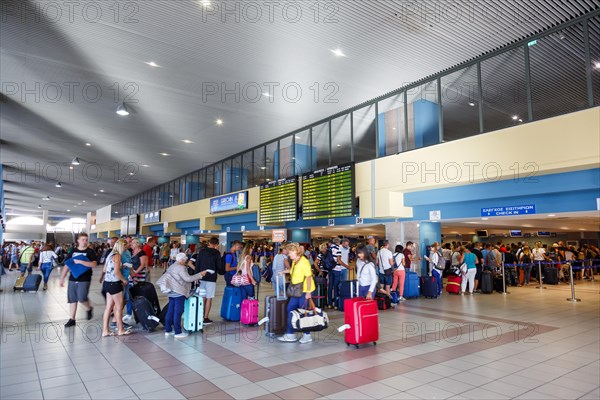
{"type": "Polygon", "coordinates": [[[298,219],[298,179],[279,179],[260,185],[261,225],[298,219]]]}

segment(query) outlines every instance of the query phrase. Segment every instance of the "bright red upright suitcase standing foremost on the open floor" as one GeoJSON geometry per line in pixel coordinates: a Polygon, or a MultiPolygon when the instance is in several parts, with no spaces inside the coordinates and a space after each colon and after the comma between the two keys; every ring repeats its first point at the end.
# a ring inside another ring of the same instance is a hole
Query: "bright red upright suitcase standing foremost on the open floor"
{"type": "Polygon", "coordinates": [[[364,298],[346,299],[344,301],[344,323],[350,327],[344,335],[346,344],[353,344],[358,349],[360,344],[379,340],[379,310],[375,300],[364,298]]]}

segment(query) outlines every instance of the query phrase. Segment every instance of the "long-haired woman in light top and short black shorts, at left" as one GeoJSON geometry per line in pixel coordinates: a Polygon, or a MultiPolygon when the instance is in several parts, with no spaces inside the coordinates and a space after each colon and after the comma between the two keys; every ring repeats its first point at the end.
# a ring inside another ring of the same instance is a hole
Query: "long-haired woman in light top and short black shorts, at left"
{"type": "Polygon", "coordinates": [[[113,336],[109,322],[111,314],[114,314],[117,323],[117,334],[119,336],[129,335],[131,331],[123,327],[123,288],[127,286],[127,279],[121,273],[121,254],[125,251],[126,242],[120,239],[113,246],[112,251],[106,257],[104,263],[104,282],[102,292],[106,293],[106,308],[102,316],[102,337],[113,336]]]}

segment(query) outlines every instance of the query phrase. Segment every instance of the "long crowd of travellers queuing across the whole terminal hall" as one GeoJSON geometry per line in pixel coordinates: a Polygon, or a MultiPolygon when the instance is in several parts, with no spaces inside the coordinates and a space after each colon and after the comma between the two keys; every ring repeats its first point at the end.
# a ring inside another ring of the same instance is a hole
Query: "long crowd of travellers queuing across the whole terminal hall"
{"type": "MultiPolygon", "coordinates": [[[[324,307],[337,309],[340,298],[340,283],[353,279],[358,282],[358,295],[374,298],[376,293],[389,296],[394,303],[402,302],[406,271],[421,272],[421,256],[417,254],[415,244],[407,242],[404,246],[391,246],[387,240],[378,242],[369,236],[365,243],[350,244],[345,238],[333,238],[318,246],[308,243],[282,243],[273,245],[267,242],[233,241],[222,254],[219,251],[219,239],[212,237],[207,242],[194,246],[182,246],[178,242],[158,244],[153,237],[144,244],[131,236],[112,237],[106,243],[89,243],[88,236],[80,233],[76,243],[54,246],[41,243],[10,243],[1,248],[2,261],[8,270],[17,269],[21,275],[31,274],[37,268],[43,274],[44,287],[54,267],[73,258],[73,263],[84,268],[84,272],[75,276],[69,274],[69,268],[63,268],[60,285],[64,286],[68,278],[67,302],[69,320],[65,327],[76,324],[78,304],[86,310],[87,319],[93,317],[93,305],[89,300],[89,290],[93,268],[103,265],[100,276],[102,294],[106,298],[103,315],[103,335],[128,335],[128,327],[135,324],[130,290],[135,284],[150,280],[152,269],[162,270],[159,279],[166,288],[169,299],[166,312],[165,334],[184,338],[187,333],[182,329],[181,318],[186,298],[192,289],[200,289],[204,297],[203,323],[211,324],[211,306],[216,296],[219,273],[224,275],[226,286],[237,286],[243,291],[244,298],[255,296],[255,286],[261,277],[266,277],[274,291],[285,291],[286,286],[297,286],[300,297],[288,302],[288,329],[280,340],[296,341],[291,327],[291,311],[298,308],[317,293],[320,282],[323,287],[324,307]],[[393,251],[392,251],[393,248],[393,251]],[[253,268],[258,265],[258,268],[253,268]],[[260,272],[257,272],[260,271],[260,272]],[[256,276],[257,273],[261,277],[256,276]],[[286,279],[275,279],[284,276],[286,279]],[[319,279],[315,279],[319,278],[319,279]],[[287,283],[284,286],[284,282],[287,283]],[[277,287],[276,285],[281,285],[277,287]],[[326,282],[326,283],[323,283],[326,282]],[[114,319],[112,322],[111,320],[114,319]]],[[[559,241],[546,248],[541,242],[530,246],[528,242],[503,244],[459,242],[433,243],[423,259],[427,262],[427,273],[437,282],[438,294],[442,293],[443,277],[449,273],[461,274],[461,294],[475,294],[480,291],[481,275],[485,270],[496,271],[501,266],[506,274],[514,274],[519,286],[530,284],[532,271],[538,268],[544,281],[547,268],[557,267],[568,272],[574,267],[575,279],[593,278],[594,269],[583,267],[584,260],[600,257],[600,250],[593,245],[584,244],[579,248],[565,246],[559,241]],[[460,271],[460,272],[459,272],[460,271]],[[518,278],[517,278],[518,276],[518,278]]],[[[597,264],[597,263],[596,263],[597,264]]],[[[4,268],[2,268],[4,272],[4,268]]],[[[537,274],[539,275],[539,274],[537,274]]],[[[562,273],[562,279],[568,275],[562,273]]],[[[158,284],[159,282],[157,282],[158,284]]],[[[322,294],[322,293],[321,293],[322,294]]],[[[310,334],[300,339],[308,343],[310,334]]]]}

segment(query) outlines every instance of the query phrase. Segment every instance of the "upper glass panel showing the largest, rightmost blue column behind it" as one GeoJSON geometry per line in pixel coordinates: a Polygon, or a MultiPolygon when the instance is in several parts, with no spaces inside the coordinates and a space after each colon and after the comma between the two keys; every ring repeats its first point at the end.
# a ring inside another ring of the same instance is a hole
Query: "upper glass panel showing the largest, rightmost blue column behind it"
{"type": "Polygon", "coordinates": [[[440,142],[437,82],[431,81],[407,91],[408,149],[440,142]]]}

